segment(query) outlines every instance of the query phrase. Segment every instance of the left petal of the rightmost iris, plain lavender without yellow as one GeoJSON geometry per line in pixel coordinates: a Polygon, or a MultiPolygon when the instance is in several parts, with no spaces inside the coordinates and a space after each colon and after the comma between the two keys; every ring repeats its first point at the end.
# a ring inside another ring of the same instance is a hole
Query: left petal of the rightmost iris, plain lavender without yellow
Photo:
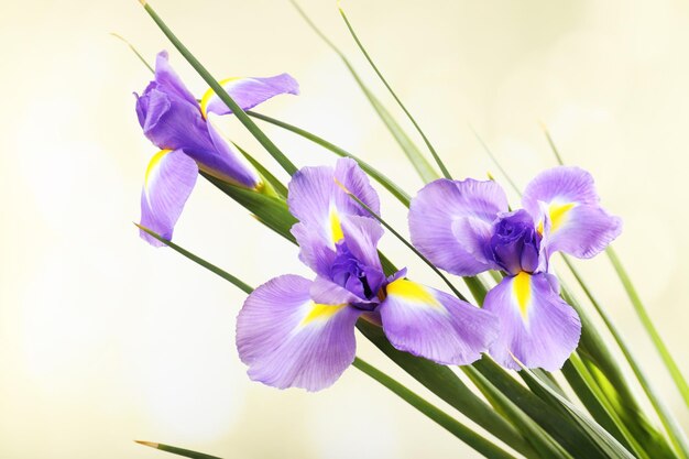
{"type": "Polygon", "coordinates": [[[412,242],[436,266],[452,274],[495,269],[489,253],[492,223],[507,209],[505,192],[494,182],[431,182],[409,207],[412,242]]]}

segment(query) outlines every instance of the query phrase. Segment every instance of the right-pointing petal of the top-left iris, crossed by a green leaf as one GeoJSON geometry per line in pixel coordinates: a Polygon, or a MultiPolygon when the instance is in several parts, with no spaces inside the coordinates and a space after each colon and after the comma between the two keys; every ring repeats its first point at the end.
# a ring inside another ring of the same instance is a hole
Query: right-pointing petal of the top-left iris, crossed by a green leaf
{"type": "MultiPolygon", "coordinates": [[[[298,83],[287,74],[266,78],[228,78],[220,81],[220,86],[242,110],[252,109],[281,94],[299,94],[298,83]]],[[[212,89],[208,89],[201,98],[201,110],[204,114],[228,114],[232,112],[212,89]]]]}

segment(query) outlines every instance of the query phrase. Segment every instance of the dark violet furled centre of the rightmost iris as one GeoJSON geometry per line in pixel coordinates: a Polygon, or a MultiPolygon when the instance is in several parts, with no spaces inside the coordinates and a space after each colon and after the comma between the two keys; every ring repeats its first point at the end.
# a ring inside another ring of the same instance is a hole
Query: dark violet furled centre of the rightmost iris
{"type": "Polygon", "coordinates": [[[493,226],[490,250],[495,263],[510,274],[538,267],[540,234],[526,210],[502,214],[493,226]]]}

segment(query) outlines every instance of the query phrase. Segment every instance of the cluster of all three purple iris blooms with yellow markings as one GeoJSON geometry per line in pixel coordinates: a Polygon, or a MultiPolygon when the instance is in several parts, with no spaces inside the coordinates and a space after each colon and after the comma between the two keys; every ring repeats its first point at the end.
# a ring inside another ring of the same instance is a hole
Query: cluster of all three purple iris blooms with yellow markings
{"type": "MultiPolygon", "coordinates": [[[[221,86],[242,110],[298,94],[286,74],[221,86]]],[[[163,239],[172,239],[199,171],[264,190],[261,175],[212,127],[211,113],[231,111],[212,90],[199,102],[160,53],[154,80],[136,96],[136,114],[161,149],[145,173],[141,226],[163,239]]],[[[292,234],[299,259],[315,275],[275,277],[247,298],[237,346],[250,378],[281,389],[331,385],[354,361],[360,318],[382,327],[396,349],[437,363],[463,365],[489,353],[507,369],[560,369],[577,348],[581,323],[559,295],[550,256],[594,256],[620,234],[621,220],[601,208],[591,175],[577,167],[540,173],[522,204],[511,210],[499,184],[471,178],[431,182],[412,200],[412,242],[435,266],[460,276],[502,275],[479,308],[409,280],[406,269],[385,275],[378,251],[384,230],[374,218],[380,200],[353,160],[299,170],[287,205],[298,220],[292,234]]]]}

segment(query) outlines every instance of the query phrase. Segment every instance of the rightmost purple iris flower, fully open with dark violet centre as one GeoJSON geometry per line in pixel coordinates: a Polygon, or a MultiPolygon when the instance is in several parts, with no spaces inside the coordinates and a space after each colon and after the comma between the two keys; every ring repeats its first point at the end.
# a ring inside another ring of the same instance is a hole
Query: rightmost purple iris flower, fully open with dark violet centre
{"type": "Polygon", "coordinates": [[[622,231],[622,221],[600,207],[593,177],[578,167],[536,176],[508,211],[494,182],[435,181],[412,201],[412,242],[434,264],[468,276],[499,270],[505,277],[483,308],[500,320],[490,353],[502,365],[560,369],[577,348],[581,323],[559,296],[548,260],[556,251],[588,259],[622,231]]]}

